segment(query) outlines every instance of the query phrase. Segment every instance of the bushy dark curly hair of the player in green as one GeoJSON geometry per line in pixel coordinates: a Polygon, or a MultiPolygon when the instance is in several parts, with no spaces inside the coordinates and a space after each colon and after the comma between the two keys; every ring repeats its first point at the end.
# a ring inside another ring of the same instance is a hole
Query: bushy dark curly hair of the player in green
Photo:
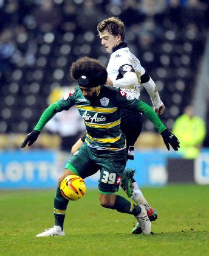
{"type": "MultiPolygon", "coordinates": [[[[108,73],[106,67],[98,60],[83,57],[72,63],[70,76],[75,80],[80,79],[81,76],[86,76],[92,85],[97,86],[106,84],[108,73]]],[[[91,86],[89,85],[89,87],[91,86]]]]}

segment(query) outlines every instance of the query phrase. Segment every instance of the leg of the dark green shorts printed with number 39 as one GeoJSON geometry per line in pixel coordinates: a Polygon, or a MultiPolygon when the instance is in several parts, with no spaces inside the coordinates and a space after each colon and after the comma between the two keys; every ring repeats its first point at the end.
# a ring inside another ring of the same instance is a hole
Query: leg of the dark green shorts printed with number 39
{"type": "Polygon", "coordinates": [[[126,166],[126,150],[107,152],[106,157],[100,157],[97,163],[100,165],[98,184],[100,193],[111,194],[117,192],[126,166]]]}

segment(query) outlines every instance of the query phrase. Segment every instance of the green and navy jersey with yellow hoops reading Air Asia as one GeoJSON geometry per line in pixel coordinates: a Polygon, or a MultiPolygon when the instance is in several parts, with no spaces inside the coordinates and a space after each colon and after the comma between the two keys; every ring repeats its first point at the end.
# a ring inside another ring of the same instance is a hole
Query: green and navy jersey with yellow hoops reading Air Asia
{"type": "MultiPolygon", "coordinates": [[[[97,149],[122,150],[126,147],[125,136],[120,130],[120,108],[134,112],[145,113],[159,132],[166,129],[152,108],[145,102],[131,98],[120,88],[100,86],[97,96],[91,101],[84,98],[79,87],[69,94],[67,99],[61,99],[50,105],[35,126],[41,131],[53,115],[63,110],[69,110],[76,105],[86,125],[86,143],[97,149]]],[[[66,120],[73,122],[74,120],[66,120]]]]}

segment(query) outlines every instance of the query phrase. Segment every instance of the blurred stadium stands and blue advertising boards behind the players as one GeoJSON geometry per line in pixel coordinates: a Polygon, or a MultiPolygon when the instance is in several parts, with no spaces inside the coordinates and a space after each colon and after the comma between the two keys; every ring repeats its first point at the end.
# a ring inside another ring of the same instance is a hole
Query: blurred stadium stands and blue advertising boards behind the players
{"type": "MultiPolygon", "coordinates": [[[[192,104],[208,131],[206,0],[1,0],[0,188],[55,187],[69,158],[66,149],[84,130],[77,112],[72,109],[50,123],[31,148],[19,147],[50,102],[76,86],[70,79],[70,63],[84,55],[108,63],[97,24],[109,16],[118,16],[126,24],[125,40],[157,84],[166,106],[160,118],[168,129],[185,106],[192,104]]],[[[143,88],[141,99],[151,104],[143,88]]],[[[183,175],[188,176],[184,182],[209,183],[208,144],[207,132],[203,152],[192,164],[192,174],[187,172],[191,166],[183,162],[187,166],[183,175]]],[[[137,168],[140,185],[169,182],[168,160],[181,156],[165,151],[162,138],[146,119],[137,148],[129,166],[137,168]]],[[[184,167],[176,166],[179,168],[182,171],[184,167]]],[[[176,182],[181,179],[183,176],[176,182]]],[[[87,185],[95,187],[97,180],[98,176],[91,177],[87,185]]]]}

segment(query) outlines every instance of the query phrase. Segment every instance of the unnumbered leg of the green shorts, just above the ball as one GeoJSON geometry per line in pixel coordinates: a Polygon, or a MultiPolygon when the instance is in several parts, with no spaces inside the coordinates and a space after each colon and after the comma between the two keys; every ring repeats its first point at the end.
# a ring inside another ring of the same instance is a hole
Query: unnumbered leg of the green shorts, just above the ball
{"type": "Polygon", "coordinates": [[[98,166],[95,165],[89,147],[84,143],[77,154],[67,162],[66,169],[73,171],[76,175],[83,179],[92,176],[98,171],[98,166]]]}

